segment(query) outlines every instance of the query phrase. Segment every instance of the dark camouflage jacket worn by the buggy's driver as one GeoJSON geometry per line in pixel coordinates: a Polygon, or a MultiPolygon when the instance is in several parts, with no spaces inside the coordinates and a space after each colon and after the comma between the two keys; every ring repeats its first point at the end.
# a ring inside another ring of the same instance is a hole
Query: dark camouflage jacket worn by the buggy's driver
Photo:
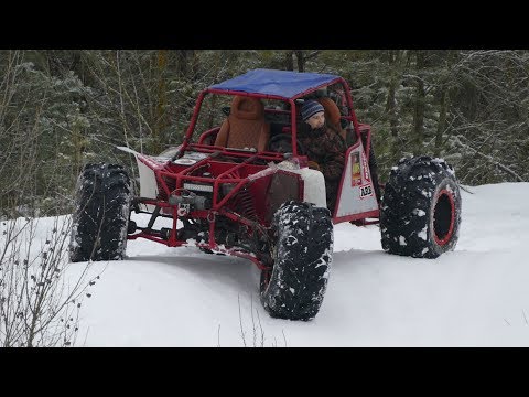
{"type": "Polygon", "coordinates": [[[303,154],[319,163],[325,180],[335,181],[342,176],[347,147],[339,133],[326,125],[313,130],[304,122],[300,126],[298,140],[303,146],[303,154]]]}

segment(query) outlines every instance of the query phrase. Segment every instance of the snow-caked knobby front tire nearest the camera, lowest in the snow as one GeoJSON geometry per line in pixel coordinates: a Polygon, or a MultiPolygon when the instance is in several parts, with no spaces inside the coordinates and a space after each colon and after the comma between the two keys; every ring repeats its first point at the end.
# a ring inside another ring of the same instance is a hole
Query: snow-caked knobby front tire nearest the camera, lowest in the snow
{"type": "Polygon", "coordinates": [[[312,320],[323,302],[333,256],[327,208],[289,201],[273,216],[272,271],[262,271],[260,296],[272,318],[312,320]]]}

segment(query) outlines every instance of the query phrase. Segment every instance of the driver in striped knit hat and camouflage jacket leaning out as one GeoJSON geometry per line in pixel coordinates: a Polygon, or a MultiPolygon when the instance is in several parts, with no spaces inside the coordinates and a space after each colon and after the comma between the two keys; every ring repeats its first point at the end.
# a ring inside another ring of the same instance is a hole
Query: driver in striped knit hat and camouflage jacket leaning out
{"type": "Polygon", "coordinates": [[[325,178],[327,208],[334,213],[347,146],[342,136],[325,122],[325,109],[316,100],[306,100],[301,108],[303,124],[298,140],[309,158],[309,167],[325,178]]]}

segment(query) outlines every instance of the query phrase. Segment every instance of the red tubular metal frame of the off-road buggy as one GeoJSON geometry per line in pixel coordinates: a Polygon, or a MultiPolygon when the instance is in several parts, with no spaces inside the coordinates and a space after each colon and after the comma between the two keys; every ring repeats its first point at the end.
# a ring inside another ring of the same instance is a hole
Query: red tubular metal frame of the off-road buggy
{"type": "MultiPolygon", "coordinates": [[[[228,255],[242,257],[242,258],[251,260],[253,264],[257,265],[257,267],[259,269],[269,269],[269,267],[266,264],[261,262],[253,254],[248,254],[248,253],[241,251],[240,249],[236,249],[236,248],[226,249],[224,247],[218,246],[216,240],[215,240],[216,216],[222,215],[222,216],[225,216],[225,217],[227,217],[227,218],[229,218],[234,222],[241,223],[246,226],[255,228],[256,227],[255,222],[252,222],[250,219],[247,219],[247,218],[245,218],[245,217],[242,217],[242,216],[240,216],[236,213],[233,213],[225,207],[225,204],[235,194],[237,194],[246,184],[251,184],[252,183],[251,175],[249,175],[247,178],[226,178],[226,176],[227,175],[234,175],[234,172],[238,173],[238,171],[240,169],[250,164],[256,159],[262,159],[262,160],[267,160],[267,161],[282,161],[282,160],[284,160],[284,157],[281,153],[238,152],[238,151],[230,151],[227,148],[204,144],[203,143],[204,140],[206,140],[209,136],[218,133],[218,131],[220,129],[219,127],[215,127],[215,128],[212,128],[212,129],[203,132],[199,136],[198,142],[197,143],[192,143],[191,138],[193,136],[193,132],[194,132],[194,129],[195,129],[195,126],[196,126],[196,122],[197,122],[197,119],[198,119],[199,109],[202,107],[202,104],[204,101],[205,96],[207,94],[238,95],[238,96],[249,96],[249,97],[257,97],[257,98],[263,98],[263,99],[277,99],[277,100],[288,101],[290,104],[291,127],[292,127],[291,128],[292,151],[293,151],[292,157],[295,158],[295,159],[299,159],[300,164],[306,165],[306,161],[304,161],[304,160],[306,160],[306,157],[299,155],[298,147],[295,144],[296,137],[298,137],[298,128],[296,128],[296,122],[295,122],[296,121],[295,100],[299,99],[299,98],[302,98],[305,95],[307,95],[310,93],[313,93],[317,89],[321,89],[323,87],[326,87],[326,86],[330,86],[330,85],[333,85],[333,84],[337,84],[337,83],[341,83],[342,86],[344,87],[344,94],[345,94],[345,98],[346,98],[347,106],[348,106],[348,109],[349,109],[349,115],[345,116],[345,119],[353,122],[354,131],[355,131],[355,133],[357,136],[357,140],[358,140],[358,139],[360,139],[360,128],[364,128],[366,125],[359,125],[358,124],[358,120],[356,118],[356,114],[355,114],[354,107],[353,107],[353,98],[350,96],[349,85],[347,84],[347,82],[344,78],[337,77],[336,79],[333,79],[331,82],[322,84],[317,87],[311,88],[311,89],[309,89],[306,92],[303,92],[301,94],[298,94],[296,96],[291,97],[291,98],[287,98],[287,97],[282,97],[282,96],[276,96],[276,95],[248,94],[248,93],[242,93],[242,92],[219,90],[219,89],[212,89],[212,88],[207,88],[207,89],[203,90],[198,95],[195,108],[193,110],[193,116],[191,118],[190,126],[186,130],[184,140],[183,140],[183,142],[180,147],[180,150],[179,150],[177,154],[175,155],[175,158],[181,158],[182,155],[184,155],[185,151],[190,150],[190,149],[193,149],[193,150],[198,151],[198,152],[204,152],[204,153],[218,152],[218,154],[224,155],[224,157],[246,158],[241,163],[238,163],[234,167],[230,167],[226,171],[222,172],[213,181],[209,178],[190,175],[197,168],[203,167],[204,164],[207,164],[207,163],[212,163],[212,160],[214,160],[212,157],[207,157],[205,159],[202,159],[202,160],[197,161],[195,164],[193,164],[191,167],[187,167],[187,168],[185,168],[181,171],[175,172],[175,171],[172,170],[174,168],[174,165],[172,164],[171,161],[168,161],[165,164],[161,164],[161,163],[158,163],[158,162],[149,159],[148,157],[138,155],[139,161],[141,161],[143,164],[145,164],[151,170],[153,170],[153,172],[155,174],[156,182],[158,182],[159,186],[161,186],[161,189],[165,193],[165,195],[168,197],[168,201],[169,201],[169,197],[171,196],[171,194],[174,194],[176,190],[182,189],[184,181],[186,181],[186,182],[213,182],[212,208],[210,210],[202,210],[202,211],[193,211],[190,214],[192,217],[206,218],[209,222],[209,240],[208,240],[208,243],[207,244],[206,243],[194,244],[195,246],[202,247],[202,248],[213,249],[215,251],[223,253],[223,254],[228,254],[228,255]],[[165,182],[163,176],[175,180],[175,189],[173,191],[168,186],[168,183],[165,182]],[[231,189],[231,191],[223,200],[220,200],[217,203],[218,191],[220,189],[222,183],[233,183],[233,184],[236,184],[236,185],[231,189]],[[213,215],[213,217],[212,217],[212,215],[213,215]]],[[[368,127],[368,126],[366,126],[366,127],[368,127]]],[[[364,151],[365,151],[366,155],[368,155],[368,153],[369,153],[370,130],[368,131],[368,135],[369,136],[368,136],[367,144],[366,144],[366,148],[364,148],[364,151]]],[[[273,174],[274,172],[278,172],[278,171],[277,170],[271,171],[270,174],[273,174]]],[[[289,173],[285,170],[282,170],[282,172],[289,173]]],[[[299,183],[299,185],[300,185],[300,191],[299,191],[300,197],[299,198],[302,200],[304,186],[303,186],[301,176],[299,174],[294,174],[294,175],[300,181],[300,183],[299,183]]],[[[342,179],[343,178],[344,178],[344,175],[342,175],[342,179]]],[[[342,190],[342,184],[341,184],[339,189],[342,190]]],[[[338,196],[339,196],[339,192],[338,192],[338,196]]],[[[158,206],[158,207],[161,207],[161,208],[170,208],[170,213],[172,214],[172,218],[173,218],[173,227],[172,227],[171,234],[169,236],[169,239],[163,239],[161,237],[158,237],[158,236],[153,235],[152,232],[149,233],[149,232],[145,232],[145,230],[142,230],[142,232],[133,234],[133,235],[129,235],[128,239],[137,239],[137,238],[141,237],[141,238],[147,238],[147,239],[160,243],[160,244],[164,244],[164,245],[170,246],[170,247],[179,247],[179,246],[191,245],[187,242],[179,240],[176,238],[177,237],[176,236],[176,230],[177,230],[176,227],[177,227],[177,221],[179,221],[177,205],[171,205],[171,204],[169,204],[168,201],[140,197],[140,203],[158,206]]],[[[371,223],[377,223],[378,221],[367,223],[365,221],[365,218],[378,217],[378,216],[379,216],[378,211],[371,211],[371,212],[366,212],[366,213],[361,213],[361,214],[348,215],[348,216],[344,216],[344,217],[339,217],[339,218],[336,217],[336,213],[335,213],[335,214],[333,214],[333,223],[336,224],[336,223],[341,223],[341,222],[352,222],[352,221],[359,221],[360,219],[360,222],[364,221],[364,224],[371,224],[371,223]]]]}

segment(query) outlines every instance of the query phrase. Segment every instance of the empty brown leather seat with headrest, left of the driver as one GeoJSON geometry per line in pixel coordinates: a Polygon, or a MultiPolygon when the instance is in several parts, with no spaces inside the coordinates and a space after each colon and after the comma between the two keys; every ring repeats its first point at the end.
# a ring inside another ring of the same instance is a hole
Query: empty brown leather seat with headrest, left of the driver
{"type": "Polygon", "coordinates": [[[236,96],[228,118],[224,121],[215,146],[235,149],[267,149],[270,125],[264,122],[264,106],[259,98],[236,96]]]}

